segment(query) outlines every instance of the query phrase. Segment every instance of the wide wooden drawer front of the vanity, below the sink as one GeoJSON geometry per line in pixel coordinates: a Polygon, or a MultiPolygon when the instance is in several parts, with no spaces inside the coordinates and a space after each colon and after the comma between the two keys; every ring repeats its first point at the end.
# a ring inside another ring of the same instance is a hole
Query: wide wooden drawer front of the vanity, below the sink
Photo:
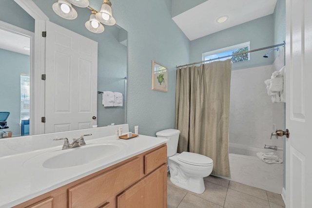
{"type": "MultiPolygon", "coordinates": [[[[69,208],[95,208],[140,179],[140,158],[68,189],[69,208]]],[[[103,205],[104,204],[104,205],[103,205]]],[[[108,204],[107,204],[108,205],[108,204]]]]}

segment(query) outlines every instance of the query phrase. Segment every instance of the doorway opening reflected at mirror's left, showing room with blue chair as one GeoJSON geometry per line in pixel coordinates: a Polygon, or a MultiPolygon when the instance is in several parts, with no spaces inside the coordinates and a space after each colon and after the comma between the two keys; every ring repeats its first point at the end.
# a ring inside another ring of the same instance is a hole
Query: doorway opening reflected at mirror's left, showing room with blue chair
{"type": "Polygon", "coordinates": [[[34,34],[0,22],[0,112],[9,112],[6,136],[29,134],[31,42],[34,34]]]}

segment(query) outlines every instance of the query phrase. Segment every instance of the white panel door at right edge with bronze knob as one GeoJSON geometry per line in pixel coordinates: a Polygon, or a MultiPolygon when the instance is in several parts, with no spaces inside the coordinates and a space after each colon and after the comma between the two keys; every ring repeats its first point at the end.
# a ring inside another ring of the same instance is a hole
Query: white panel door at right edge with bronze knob
{"type": "Polygon", "coordinates": [[[312,208],[312,0],[286,0],[286,208],[312,208]]]}

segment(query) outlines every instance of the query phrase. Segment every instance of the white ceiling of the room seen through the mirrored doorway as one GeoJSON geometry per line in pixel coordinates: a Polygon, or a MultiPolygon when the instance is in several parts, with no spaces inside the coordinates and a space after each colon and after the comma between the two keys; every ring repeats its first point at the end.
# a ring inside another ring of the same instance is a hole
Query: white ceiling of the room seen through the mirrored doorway
{"type": "Polygon", "coordinates": [[[0,30],[0,37],[1,49],[29,56],[30,51],[25,50],[24,47],[30,47],[30,38],[5,30],[0,30]]]}

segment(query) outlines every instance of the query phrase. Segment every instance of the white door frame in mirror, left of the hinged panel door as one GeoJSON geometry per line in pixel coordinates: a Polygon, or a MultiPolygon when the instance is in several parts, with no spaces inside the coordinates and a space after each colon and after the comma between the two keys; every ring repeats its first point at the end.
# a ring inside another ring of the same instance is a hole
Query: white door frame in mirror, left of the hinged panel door
{"type": "Polygon", "coordinates": [[[30,135],[44,133],[44,82],[41,75],[45,74],[45,39],[42,31],[45,31],[45,21],[49,18],[40,10],[32,0],[14,0],[32,18],[35,19],[35,37],[31,51],[31,73],[30,73],[30,135]],[[35,61],[36,60],[36,61],[35,61]]]}

